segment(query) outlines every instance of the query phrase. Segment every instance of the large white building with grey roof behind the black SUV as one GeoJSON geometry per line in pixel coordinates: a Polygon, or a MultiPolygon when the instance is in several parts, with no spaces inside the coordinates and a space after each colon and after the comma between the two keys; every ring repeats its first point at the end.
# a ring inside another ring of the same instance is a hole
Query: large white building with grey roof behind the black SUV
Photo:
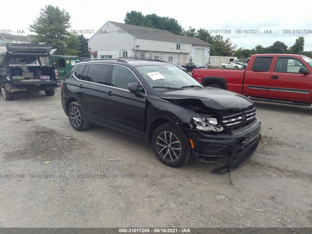
{"type": "Polygon", "coordinates": [[[181,65],[209,62],[212,45],[166,30],[107,21],[89,40],[91,58],[159,59],[181,65]]]}

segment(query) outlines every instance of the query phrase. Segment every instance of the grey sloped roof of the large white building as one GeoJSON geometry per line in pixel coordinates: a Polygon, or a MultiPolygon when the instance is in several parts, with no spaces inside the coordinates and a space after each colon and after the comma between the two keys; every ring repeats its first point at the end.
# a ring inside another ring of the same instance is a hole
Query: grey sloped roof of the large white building
{"type": "Polygon", "coordinates": [[[137,25],[131,25],[126,23],[118,23],[114,21],[108,21],[118,28],[125,30],[126,33],[130,35],[141,38],[141,39],[152,39],[152,40],[162,40],[162,41],[173,41],[180,43],[188,43],[188,44],[196,44],[196,45],[204,45],[204,46],[212,46],[212,44],[203,41],[198,38],[187,37],[183,35],[175,35],[167,30],[161,30],[156,28],[142,27],[137,25]]]}

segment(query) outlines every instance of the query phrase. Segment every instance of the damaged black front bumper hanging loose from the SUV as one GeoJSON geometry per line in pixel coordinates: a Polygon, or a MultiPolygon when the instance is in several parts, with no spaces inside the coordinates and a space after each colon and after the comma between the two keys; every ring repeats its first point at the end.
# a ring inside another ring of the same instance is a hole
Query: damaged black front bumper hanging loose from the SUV
{"type": "Polygon", "coordinates": [[[183,128],[183,131],[193,140],[194,149],[191,149],[191,156],[194,162],[226,161],[225,166],[212,171],[220,174],[234,170],[254,154],[261,138],[260,129],[261,122],[256,117],[253,122],[230,135],[204,134],[188,128],[183,128]]]}

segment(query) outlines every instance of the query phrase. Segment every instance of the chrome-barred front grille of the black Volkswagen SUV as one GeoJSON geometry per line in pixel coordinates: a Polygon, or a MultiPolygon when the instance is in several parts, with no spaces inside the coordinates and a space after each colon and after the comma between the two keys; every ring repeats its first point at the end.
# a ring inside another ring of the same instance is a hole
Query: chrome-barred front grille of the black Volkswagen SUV
{"type": "Polygon", "coordinates": [[[245,125],[255,119],[255,108],[249,111],[240,112],[230,116],[223,116],[222,123],[227,127],[245,125]]]}

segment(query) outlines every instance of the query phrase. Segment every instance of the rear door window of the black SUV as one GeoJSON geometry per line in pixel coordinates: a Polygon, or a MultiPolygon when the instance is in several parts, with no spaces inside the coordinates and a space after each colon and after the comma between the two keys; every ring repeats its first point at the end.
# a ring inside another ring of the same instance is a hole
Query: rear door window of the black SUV
{"type": "Polygon", "coordinates": [[[107,84],[110,64],[90,64],[86,81],[107,84]]]}

